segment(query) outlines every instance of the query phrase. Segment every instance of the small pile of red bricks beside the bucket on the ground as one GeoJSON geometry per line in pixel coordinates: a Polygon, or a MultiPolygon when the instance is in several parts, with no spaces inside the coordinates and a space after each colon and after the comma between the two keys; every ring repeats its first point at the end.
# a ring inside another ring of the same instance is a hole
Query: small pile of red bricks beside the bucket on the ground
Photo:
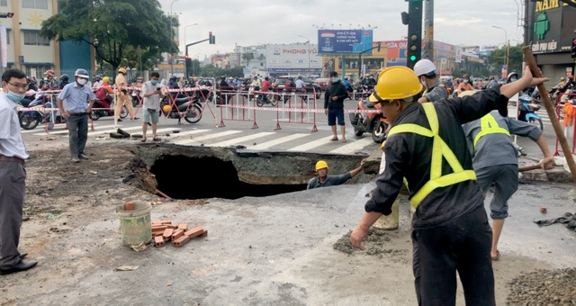
{"type": "Polygon", "coordinates": [[[186,223],[173,225],[171,220],[152,221],[154,247],[164,247],[166,241],[172,241],[175,247],[182,247],[190,239],[206,235],[208,235],[208,230],[203,229],[202,226],[188,229],[186,223]]]}

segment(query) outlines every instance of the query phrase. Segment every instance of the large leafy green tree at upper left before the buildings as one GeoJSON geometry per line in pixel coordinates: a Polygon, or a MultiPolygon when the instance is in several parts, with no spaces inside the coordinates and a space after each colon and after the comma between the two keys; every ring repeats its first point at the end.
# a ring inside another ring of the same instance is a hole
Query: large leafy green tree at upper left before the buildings
{"type": "Polygon", "coordinates": [[[61,13],[42,22],[40,36],[85,41],[113,70],[124,58],[139,58],[135,49],[142,50],[143,63],[148,63],[148,58],[157,63],[161,52],[178,50],[171,40],[173,29],[169,29],[170,18],[173,26],[178,20],[166,16],[157,0],[59,0],[58,7],[61,13]]]}

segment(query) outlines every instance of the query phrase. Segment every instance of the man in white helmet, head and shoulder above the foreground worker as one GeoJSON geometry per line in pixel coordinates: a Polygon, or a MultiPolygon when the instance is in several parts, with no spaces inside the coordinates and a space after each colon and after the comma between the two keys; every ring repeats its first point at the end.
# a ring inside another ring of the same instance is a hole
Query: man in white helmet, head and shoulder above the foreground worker
{"type": "Polygon", "coordinates": [[[440,85],[436,74],[436,66],[428,58],[422,58],[414,65],[414,73],[424,86],[424,93],[418,99],[419,103],[435,102],[448,97],[446,86],[440,85]]]}

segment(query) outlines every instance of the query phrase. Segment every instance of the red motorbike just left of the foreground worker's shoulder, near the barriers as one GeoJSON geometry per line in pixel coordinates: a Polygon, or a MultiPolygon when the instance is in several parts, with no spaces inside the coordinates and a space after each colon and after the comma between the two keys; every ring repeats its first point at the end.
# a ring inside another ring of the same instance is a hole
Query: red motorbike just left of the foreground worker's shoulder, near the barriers
{"type": "Polygon", "coordinates": [[[350,123],[354,128],[356,136],[364,133],[372,133],[372,139],[376,143],[383,143],[386,140],[386,129],[388,122],[380,112],[380,103],[370,103],[367,100],[358,102],[358,111],[378,111],[378,112],[350,112],[350,123]]]}

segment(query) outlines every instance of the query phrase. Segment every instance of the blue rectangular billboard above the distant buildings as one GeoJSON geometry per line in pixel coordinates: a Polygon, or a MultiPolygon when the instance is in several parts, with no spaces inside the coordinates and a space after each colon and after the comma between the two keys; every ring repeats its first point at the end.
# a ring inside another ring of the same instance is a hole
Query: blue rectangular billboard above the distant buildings
{"type": "MultiPolygon", "coordinates": [[[[372,30],[319,30],[320,54],[358,54],[372,49],[372,30]]],[[[363,53],[372,55],[372,50],[363,53]]]]}

